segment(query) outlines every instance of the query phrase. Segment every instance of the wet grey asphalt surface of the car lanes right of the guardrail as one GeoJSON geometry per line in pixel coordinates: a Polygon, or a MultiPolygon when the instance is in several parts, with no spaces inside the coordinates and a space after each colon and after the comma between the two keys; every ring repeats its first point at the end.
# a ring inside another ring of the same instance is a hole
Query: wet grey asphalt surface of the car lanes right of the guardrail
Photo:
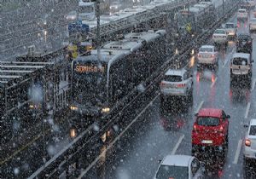
{"type": "MultiPolygon", "coordinates": [[[[236,16],[229,21],[236,23],[236,16]]],[[[239,21],[238,33],[248,32],[247,21],[239,21]]],[[[256,57],[256,34],[253,39],[253,60],[256,57]]],[[[207,69],[199,73],[194,69],[194,103],[188,112],[176,103],[169,110],[167,121],[174,123],[171,130],[163,128],[162,119],[166,115],[160,110],[160,97],[156,97],[146,111],[137,118],[129,130],[113,144],[107,153],[102,154],[98,164],[84,178],[153,178],[158,160],[167,154],[191,155],[191,130],[194,114],[201,107],[223,108],[230,114],[229,149],[225,159],[205,157],[208,178],[255,178],[255,166],[245,168],[242,158],[243,139],[246,124],[250,118],[256,118],[255,81],[256,69],[253,67],[252,84],[235,84],[230,89],[230,58],[236,52],[236,43],[229,42],[228,48],[218,50],[218,72],[207,69]],[[213,165],[214,164],[214,165],[213,165]],[[254,168],[254,169],[253,169],[254,168]]],[[[191,61],[195,61],[192,57],[191,61]]],[[[255,63],[255,62],[254,62],[255,63]]],[[[254,65],[254,64],[253,64],[254,65]]],[[[207,152],[208,153],[208,152],[207,152]]],[[[207,154],[205,153],[205,154],[207,154]]]]}

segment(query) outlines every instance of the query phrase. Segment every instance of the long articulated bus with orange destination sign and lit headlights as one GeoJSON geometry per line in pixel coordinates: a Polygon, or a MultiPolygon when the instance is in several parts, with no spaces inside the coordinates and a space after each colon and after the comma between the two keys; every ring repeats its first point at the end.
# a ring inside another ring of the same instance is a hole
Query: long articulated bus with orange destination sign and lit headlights
{"type": "Polygon", "coordinates": [[[160,32],[131,33],[105,44],[99,55],[92,50],[91,55],[74,60],[73,113],[101,117],[145,81],[166,59],[166,43],[160,40],[165,39],[165,31],[160,32]]]}

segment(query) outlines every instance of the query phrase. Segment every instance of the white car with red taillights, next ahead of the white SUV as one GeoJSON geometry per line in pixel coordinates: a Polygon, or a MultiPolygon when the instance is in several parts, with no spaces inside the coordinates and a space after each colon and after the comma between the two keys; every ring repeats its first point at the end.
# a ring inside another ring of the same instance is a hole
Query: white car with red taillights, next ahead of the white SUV
{"type": "Polygon", "coordinates": [[[218,51],[213,45],[202,45],[197,55],[197,66],[214,66],[218,68],[218,51]]]}

